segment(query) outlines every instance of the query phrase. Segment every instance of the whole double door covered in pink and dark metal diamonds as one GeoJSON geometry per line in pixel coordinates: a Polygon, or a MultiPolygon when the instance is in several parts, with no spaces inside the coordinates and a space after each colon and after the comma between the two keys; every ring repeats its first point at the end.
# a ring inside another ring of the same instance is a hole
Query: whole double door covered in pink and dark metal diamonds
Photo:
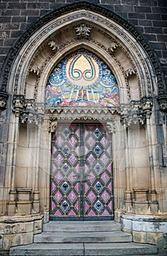
{"type": "Polygon", "coordinates": [[[51,219],[113,219],[110,140],[101,124],[58,125],[52,148],[51,219]]]}

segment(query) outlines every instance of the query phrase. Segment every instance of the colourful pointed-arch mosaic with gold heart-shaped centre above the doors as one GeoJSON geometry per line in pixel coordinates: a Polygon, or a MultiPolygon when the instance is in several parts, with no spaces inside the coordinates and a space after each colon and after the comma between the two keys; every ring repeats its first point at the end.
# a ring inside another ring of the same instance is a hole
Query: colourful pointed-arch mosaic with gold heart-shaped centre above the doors
{"type": "Polygon", "coordinates": [[[59,62],[47,81],[47,105],[113,107],[119,100],[111,69],[88,50],[77,50],[59,62]]]}

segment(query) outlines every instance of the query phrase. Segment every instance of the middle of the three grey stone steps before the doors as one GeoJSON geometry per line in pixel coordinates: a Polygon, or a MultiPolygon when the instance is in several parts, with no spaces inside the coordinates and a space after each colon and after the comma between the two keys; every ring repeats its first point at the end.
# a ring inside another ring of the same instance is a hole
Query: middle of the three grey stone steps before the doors
{"type": "Polygon", "coordinates": [[[130,242],[130,233],[114,232],[43,232],[34,236],[34,243],[115,243],[130,242]]]}

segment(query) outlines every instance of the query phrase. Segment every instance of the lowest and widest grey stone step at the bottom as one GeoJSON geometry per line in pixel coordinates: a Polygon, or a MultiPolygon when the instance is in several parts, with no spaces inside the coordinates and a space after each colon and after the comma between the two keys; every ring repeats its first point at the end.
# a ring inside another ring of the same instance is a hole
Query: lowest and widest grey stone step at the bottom
{"type": "Polygon", "coordinates": [[[29,244],[10,249],[10,256],[114,256],[157,255],[156,246],[136,243],[107,244],[29,244]]]}

